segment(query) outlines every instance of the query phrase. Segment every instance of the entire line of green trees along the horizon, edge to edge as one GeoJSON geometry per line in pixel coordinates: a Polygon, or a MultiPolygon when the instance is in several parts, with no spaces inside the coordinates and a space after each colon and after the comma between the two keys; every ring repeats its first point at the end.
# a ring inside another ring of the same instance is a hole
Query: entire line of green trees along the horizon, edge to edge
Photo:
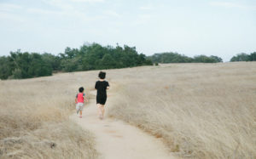
{"type": "MultiPolygon", "coordinates": [[[[230,61],[255,61],[256,52],[236,54],[230,61]]],[[[177,53],[160,53],[146,56],[138,54],[135,47],[102,46],[98,43],[84,44],[80,48],[66,48],[64,53],[54,55],[10,52],[0,56],[0,79],[21,79],[51,76],[53,72],[90,71],[153,65],[153,63],[217,63],[218,56],[196,55],[193,58],[177,53]]]]}

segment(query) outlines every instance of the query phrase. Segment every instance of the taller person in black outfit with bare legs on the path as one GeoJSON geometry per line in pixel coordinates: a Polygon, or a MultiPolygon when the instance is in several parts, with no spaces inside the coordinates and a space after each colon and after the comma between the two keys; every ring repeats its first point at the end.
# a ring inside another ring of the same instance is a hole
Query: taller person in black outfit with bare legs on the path
{"type": "Polygon", "coordinates": [[[109,84],[105,81],[106,72],[100,71],[99,73],[100,80],[96,82],[95,88],[97,89],[96,95],[96,105],[98,106],[98,114],[100,119],[103,119],[104,116],[104,105],[107,100],[107,91],[106,89],[109,88],[109,84]]]}

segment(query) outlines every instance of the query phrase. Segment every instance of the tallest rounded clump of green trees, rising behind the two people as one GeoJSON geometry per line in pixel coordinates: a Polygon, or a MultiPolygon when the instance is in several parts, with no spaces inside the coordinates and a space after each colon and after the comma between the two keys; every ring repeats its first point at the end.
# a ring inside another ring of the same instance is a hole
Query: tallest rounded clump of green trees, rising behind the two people
{"type": "Polygon", "coordinates": [[[135,47],[117,45],[102,47],[100,44],[83,45],[80,49],[66,48],[59,54],[61,71],[89,71],[152,65],[145,54],[137,54],[135,47]]]}

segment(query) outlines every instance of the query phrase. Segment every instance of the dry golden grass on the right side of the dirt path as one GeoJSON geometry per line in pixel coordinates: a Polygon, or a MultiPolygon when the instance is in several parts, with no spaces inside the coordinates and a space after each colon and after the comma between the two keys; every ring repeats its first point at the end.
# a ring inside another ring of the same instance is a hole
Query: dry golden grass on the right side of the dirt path
{"type": "Polygon", "coordinates": [[[256,158],[256,63],[109,71],[108,115],[163,139],[178,156],[256,158]]]}

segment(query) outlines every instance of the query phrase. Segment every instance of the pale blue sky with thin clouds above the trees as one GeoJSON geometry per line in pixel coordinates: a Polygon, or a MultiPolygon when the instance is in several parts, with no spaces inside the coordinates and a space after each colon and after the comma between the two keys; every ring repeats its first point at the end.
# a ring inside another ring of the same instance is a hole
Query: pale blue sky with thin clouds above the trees
{"type": "Polygon", "coordinates": [[[151,55],[256,52],[256,0],[0,0],[0,56],[84,43],[151,55]]]}

